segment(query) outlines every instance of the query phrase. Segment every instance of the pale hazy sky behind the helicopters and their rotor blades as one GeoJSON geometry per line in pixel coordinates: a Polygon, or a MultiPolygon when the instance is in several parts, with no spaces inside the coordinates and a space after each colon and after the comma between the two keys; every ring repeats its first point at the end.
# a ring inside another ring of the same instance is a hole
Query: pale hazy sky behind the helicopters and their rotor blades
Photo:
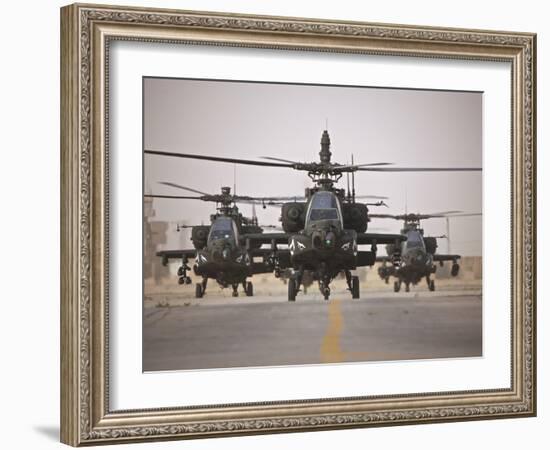
{"type": "MultiPolygon", "coordinates": [[[[482,93],[268,83],[144,80],[144,147],[150,150],[259,159],[317,161],[328,122],[332,160],[397,166],[482,164],[482,93]]],[[[236,166],[241,195],[303,195],[305,172],[236,166]]],[[[233,186],[234,165],[145,155],[145,190],[183,194],[170,181],[208,193],[233,186]]],[[[358,172],[357,194],[384,195],[389,208],[371,212],[481,212],[482,174],[358,172]]],[[[340,187],[345,187],[345,177],[340,187]]],[[[193,195],[193,194],[190,194],[193,195]]],[[[209,223],[214,204],[155,199],[156,220],[209,223]]],[[[241,211],[251,215],[251,206],[241,211]]],[[[262,224],[279,224],[280,209],[257,208],[262,224]]],[[[480,217],[451,220],[453,253],[480,255],[480,217]]],[[[398,231],[402,223],[376,220],[371,231],[398,231]]],[[[445,221],[426,220],[426,235],[445,234],[445,221]]],[[[189,245],[191,245],[189,243],[189,245]]],[[[440,240],[440,252],[446,251],[440,240]]]]}

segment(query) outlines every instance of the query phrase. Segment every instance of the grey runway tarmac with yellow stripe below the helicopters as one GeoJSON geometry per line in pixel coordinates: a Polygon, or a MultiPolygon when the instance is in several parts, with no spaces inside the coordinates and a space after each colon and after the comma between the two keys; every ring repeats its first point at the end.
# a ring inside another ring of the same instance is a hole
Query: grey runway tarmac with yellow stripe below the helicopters
{"type": "Polygon", "coordinates": [[[152,299],[143,370],[482,356],[479,292],[152,299]]]}

